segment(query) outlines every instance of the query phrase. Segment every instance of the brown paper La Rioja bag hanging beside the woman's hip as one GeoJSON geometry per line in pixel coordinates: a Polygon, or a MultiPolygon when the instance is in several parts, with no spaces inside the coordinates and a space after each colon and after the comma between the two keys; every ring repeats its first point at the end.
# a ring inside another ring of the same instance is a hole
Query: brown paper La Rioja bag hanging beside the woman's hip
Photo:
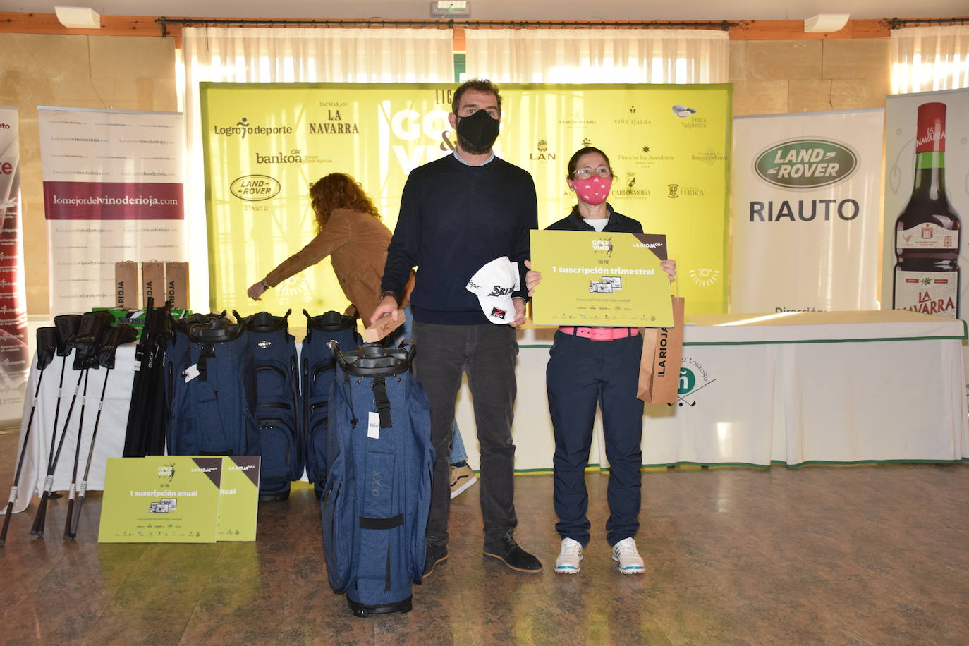
{"type": "Polygon", "coordinates": [[[683,303],[672,296],[672,327],[646,327],[642,336],[640,385],[636,396],[648,404],[674,404],[683,358],[683,303]]]}

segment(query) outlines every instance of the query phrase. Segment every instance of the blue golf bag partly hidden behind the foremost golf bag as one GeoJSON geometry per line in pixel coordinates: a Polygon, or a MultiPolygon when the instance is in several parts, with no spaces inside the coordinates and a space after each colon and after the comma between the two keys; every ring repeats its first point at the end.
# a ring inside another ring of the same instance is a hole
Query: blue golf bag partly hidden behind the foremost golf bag
{"type": "Polygon", "coordinates": [[[327,480],[327,437],[329,391],[333,385],[335,361],[328,343],[356,348],[361,342],[357,320],[338,312],[311,317],[306,310],[306,338],[300,351],[300,381],[303,403],[303,446],[306,477],[313,483],[316,497],[327,480]]]}

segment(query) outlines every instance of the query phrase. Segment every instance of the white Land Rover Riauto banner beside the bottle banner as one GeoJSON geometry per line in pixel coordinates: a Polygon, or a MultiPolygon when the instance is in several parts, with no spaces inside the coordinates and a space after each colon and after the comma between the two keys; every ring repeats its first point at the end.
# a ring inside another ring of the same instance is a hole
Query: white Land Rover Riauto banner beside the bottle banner
{"type": "Polygon", "coordinates": [[[734,119],[732,312],[877,309],[883,121],[734,119]]]}

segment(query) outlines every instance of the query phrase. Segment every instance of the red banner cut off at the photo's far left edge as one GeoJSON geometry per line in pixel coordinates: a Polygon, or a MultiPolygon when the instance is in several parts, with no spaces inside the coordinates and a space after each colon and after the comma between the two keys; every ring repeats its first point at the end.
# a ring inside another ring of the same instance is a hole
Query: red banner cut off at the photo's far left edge
{"type": "Polygon", "coordinates": [[[30,368],[20,227],[20,153],[17,108],[0,106],[0,421],[23,412],[30,368]]]}

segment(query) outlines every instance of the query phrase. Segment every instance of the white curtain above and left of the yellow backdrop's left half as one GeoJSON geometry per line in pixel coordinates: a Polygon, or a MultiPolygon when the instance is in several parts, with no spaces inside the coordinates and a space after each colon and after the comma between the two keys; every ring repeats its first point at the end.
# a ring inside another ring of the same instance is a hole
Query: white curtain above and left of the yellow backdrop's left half
{"type": "Polygon", "coordinates": [[[190,303],[208,308],[201,81],[451,83],[450,29],[214,28],[182,30],[179,108],[185,112],[185,217],[190,303]]]}

